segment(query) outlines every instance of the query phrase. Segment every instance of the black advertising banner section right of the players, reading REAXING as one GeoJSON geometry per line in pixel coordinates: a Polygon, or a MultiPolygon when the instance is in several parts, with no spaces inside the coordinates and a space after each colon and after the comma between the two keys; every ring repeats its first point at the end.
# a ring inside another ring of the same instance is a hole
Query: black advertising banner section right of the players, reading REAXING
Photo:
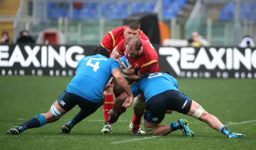
{"type": "Polygon", "coordinates": [[[254,48],[158,47],[160,71],[181,78],[256,78],[254,48]]]}

